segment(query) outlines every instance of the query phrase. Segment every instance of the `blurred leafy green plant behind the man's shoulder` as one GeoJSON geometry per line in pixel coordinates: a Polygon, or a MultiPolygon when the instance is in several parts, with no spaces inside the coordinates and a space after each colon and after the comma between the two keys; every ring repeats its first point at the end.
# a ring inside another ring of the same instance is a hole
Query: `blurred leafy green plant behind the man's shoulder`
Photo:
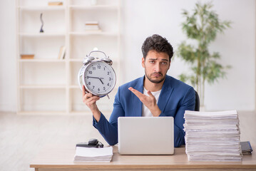
{"type": "Polygon", "coordinates": [[[220,21],[218,15],[212,10],[213,4],[195,4],[193,14],[183,10],[185,21],[182,23],[183,31],[195,46],[183,41],[178,46],[178,57],[191,64],[193,74],[182,73],[181,81],[190,82],[200,96],[200,105],[204,106],[205,81],[212,84],[218,78],[225,77],[225,70],[230,66],[217,63],[220,53],[210,53],[209,45],[217,36],[230,27],[230,21],[220,21]]]}

